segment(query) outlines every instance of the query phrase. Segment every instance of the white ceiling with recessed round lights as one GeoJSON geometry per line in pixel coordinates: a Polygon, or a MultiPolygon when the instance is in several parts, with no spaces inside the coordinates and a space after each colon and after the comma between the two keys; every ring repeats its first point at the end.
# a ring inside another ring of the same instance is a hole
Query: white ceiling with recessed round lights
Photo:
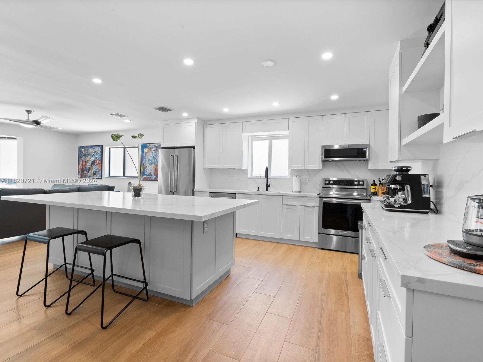
{"type": "Polygon", "coordinates": [[[397,41],[425,36],[440,4],[0,1],[0,117],[32,109],[87,133],[154,127],[182,112],[212,120],[384,104],[397,41]]]}

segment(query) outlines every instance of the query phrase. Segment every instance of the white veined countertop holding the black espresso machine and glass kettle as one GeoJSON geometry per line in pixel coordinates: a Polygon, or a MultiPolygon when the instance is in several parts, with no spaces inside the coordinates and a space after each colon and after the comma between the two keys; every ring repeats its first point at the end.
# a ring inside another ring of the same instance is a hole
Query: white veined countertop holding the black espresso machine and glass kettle
{"type": "Polygon", "coordinates": [[[448,217],[411,212],[390,212],[380,204],[362,204],[379,241],[394,263],[405,288],[483,301],[483,275],[445,265],[427,256],[426,244],[461,239],[461,223],[448,217]]]}

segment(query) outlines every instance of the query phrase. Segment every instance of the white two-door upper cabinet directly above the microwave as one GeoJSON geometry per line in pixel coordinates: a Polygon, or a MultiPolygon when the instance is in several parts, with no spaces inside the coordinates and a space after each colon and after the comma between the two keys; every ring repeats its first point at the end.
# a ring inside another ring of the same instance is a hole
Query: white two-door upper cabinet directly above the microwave
{"type": "Polygon", "coordinates": [[[322,145],[369,143],[370,112],[322,117],[322,145]]]}

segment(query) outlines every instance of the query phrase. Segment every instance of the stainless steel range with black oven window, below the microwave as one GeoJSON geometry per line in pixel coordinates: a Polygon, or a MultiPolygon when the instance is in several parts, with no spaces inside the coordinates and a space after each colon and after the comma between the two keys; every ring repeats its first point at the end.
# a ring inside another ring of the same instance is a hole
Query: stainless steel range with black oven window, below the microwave
{"type": "Polygon", "coordinates": [[[322,179],[319,248],[359,252],[362,204],[370,202],[366,179],[322,179]]]}

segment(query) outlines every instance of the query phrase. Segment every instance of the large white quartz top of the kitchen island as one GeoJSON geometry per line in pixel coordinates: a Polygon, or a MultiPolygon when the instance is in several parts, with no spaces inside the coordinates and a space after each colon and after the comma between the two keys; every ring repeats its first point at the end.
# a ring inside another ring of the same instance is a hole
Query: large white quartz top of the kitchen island
{"type": "Polygon", "coordinates": [[[131,193],[113,191],[2,196],[1,199],[193,221],[213,219],[258,203],[256,200],[156,194],[133,199],[131,193]]]}

